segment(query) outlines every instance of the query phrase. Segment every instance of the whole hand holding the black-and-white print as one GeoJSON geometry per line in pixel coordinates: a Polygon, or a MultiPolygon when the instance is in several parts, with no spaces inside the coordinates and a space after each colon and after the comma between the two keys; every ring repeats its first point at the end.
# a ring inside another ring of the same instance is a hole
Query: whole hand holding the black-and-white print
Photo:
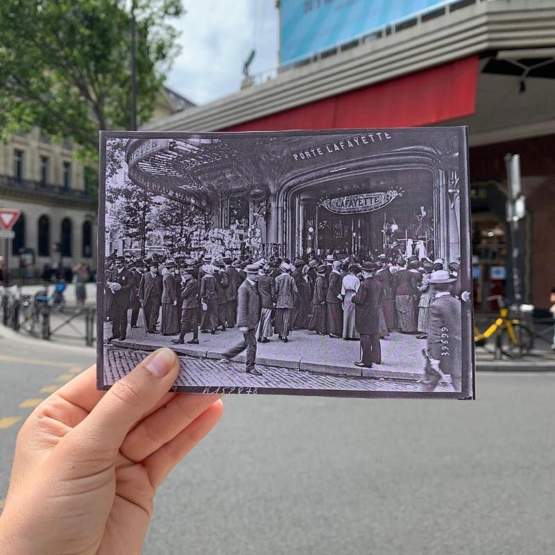
{"type": "Polygon", "coordinates": [[[155,488],[221,417],[219,395],[168,393],[169,349],[108,392],[96,368],[53,393],[17,436],[0,554],[141,552],[155,488]]]}

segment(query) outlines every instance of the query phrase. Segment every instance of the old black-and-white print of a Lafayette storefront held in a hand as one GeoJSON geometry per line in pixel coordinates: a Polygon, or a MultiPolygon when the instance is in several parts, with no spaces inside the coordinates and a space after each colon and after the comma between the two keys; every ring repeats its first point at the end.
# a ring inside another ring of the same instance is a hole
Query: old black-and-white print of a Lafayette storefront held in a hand
{"type": "Polygon", "coordinates": [[[472,399],[469,204],[463,127],[101,132],[97,385],[472,399]]]}

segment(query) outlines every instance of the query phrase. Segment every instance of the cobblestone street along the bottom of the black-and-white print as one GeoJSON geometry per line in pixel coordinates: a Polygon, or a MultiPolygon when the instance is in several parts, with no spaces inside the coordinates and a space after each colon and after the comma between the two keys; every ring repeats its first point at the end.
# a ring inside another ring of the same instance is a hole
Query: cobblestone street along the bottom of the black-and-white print
{"type": "MultiPolygon", "coordinates": [[[[146,355],[148,355],[146,351],[128,351],[105,346],[104,359],[108,361],[108,368],[104,370],[105,382],[114,383],[146,355]]],[[[262,376],[253,376],[245,372],[245,365],[241,363],[219,364],[214,359],[196,357],[180,357],[180,362],[178,386],[210,388],[211,392],[216,391],[218,387],[242,388],[242,391],[226,391],[227,393],[262,393],[261,390],[265,388],[325,389],[345,392],[348,390],[399,393],[421,391],[420,384],[409,379],[343,377],[260,364],[257,368],[262,370],[262,376]]],[[[436,393],[447,391],[450,391],[448,386],[438,384],[436,393]]]]}

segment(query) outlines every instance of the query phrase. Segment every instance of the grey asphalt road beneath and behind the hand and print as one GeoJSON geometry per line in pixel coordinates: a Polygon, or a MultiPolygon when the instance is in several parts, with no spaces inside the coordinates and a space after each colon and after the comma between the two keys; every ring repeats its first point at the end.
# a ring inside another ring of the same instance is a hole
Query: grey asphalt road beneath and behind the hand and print
{"type": "MultiPolygon", "coordinates": [[[[93,360],[0,339],[0,499],[8,418],[93,360]]],[[[475,402],[228,396],[144,553],[554,553],[554,393],[555,373],[479,373],[475,402]]]]}

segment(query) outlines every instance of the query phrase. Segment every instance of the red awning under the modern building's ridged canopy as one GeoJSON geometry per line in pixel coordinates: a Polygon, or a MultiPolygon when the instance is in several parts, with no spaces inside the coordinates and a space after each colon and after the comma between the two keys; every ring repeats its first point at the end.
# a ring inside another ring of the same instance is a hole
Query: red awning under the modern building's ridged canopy
{"type": "Polygon", "coordinates": [[[225,131],[422,126],[475,112],[478,56],[239,123],[225,131]]]}

